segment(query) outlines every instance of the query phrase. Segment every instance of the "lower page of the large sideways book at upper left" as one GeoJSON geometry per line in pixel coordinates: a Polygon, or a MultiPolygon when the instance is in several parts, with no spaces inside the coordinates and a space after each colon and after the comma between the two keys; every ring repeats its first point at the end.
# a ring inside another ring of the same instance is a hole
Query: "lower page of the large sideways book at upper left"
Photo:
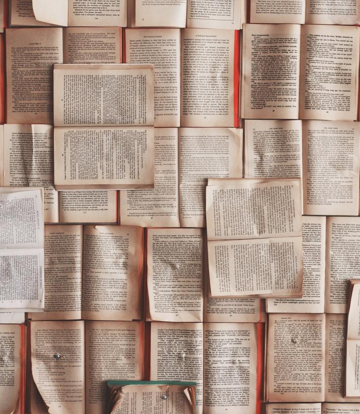
{"type": "Polygon", "coordinates": [[[55,188],[153,188],[153,127],[54,130],[55,188]]]}

